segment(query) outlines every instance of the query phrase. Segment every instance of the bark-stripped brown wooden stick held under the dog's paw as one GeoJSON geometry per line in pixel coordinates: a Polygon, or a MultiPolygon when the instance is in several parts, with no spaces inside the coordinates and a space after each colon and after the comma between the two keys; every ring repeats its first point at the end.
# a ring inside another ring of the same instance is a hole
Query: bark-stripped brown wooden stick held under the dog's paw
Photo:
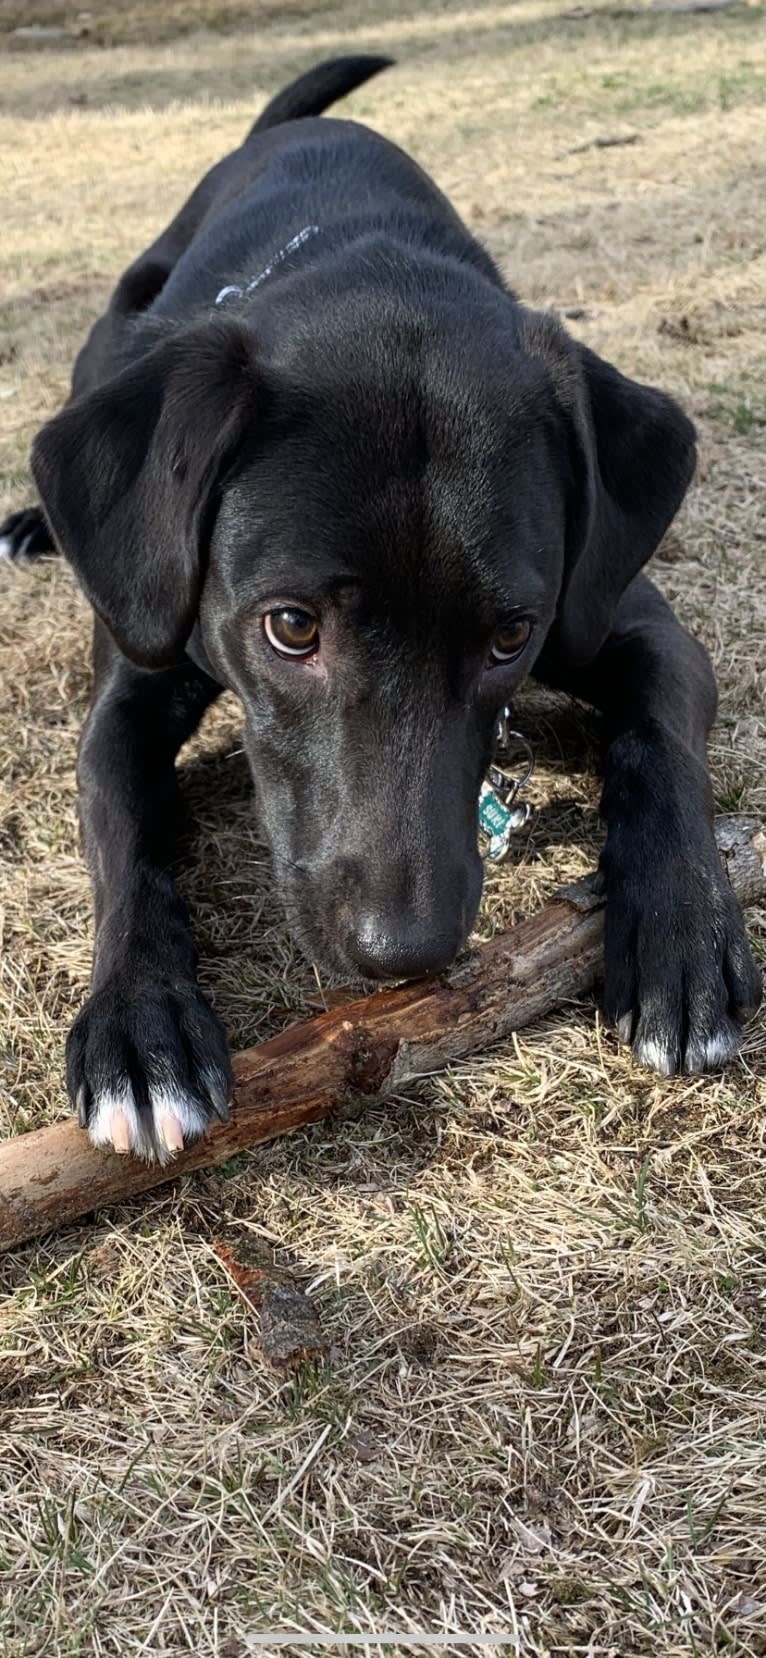
{"type": "MultiPolygon", "coordinates": [[[[759,824],[721,817],[716,839],[739,902],[763,897],[766,836],[759,824]]],[[[0,1250],[225,1162],[259,1141],[327,1117],[351,1096],[391,1094],[582,996],[600,970],[602,909],[587,877],[448,973],[348,1001],[237,1054],[230,1121],[166,1167],[96,1151],[71,1117],[5,1141],[0,1250]]]]}

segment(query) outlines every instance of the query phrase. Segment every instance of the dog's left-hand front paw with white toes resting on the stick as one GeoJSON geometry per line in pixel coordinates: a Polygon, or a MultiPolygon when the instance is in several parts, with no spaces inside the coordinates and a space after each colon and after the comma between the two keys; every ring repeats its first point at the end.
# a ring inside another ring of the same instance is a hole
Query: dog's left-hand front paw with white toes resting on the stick
{"type": "Polygon", "coordinates": [[[95,1146],[167,1162],[212,1116],[229,1116],[234,1078],[197,985],[114,978],[70,1031],[66,1084],[95,1146]]]}

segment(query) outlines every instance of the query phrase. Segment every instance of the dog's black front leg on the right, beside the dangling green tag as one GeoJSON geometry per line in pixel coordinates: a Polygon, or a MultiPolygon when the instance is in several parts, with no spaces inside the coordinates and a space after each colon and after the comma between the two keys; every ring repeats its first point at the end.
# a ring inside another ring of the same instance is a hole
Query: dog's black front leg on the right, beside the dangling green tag
{"type": "Polygon", "coordinates": [[[605,1013],[663,1076],[718,1068],[739,1048],[761,973],[713,841],[708,655],[642,575],[589,668],[541,658],[537,671],[607,725],[605,1013]]]}

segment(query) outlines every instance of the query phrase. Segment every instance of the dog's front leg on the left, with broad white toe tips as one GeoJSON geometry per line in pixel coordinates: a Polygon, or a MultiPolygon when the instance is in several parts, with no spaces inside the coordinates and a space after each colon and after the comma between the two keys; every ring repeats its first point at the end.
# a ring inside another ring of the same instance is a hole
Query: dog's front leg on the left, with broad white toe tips
{"type": "Polygon", "coordinates": [[[91,995],[70,1033],[68,1089],[98,1146],[166,1161],[227,1114],[224,1030],[199,990],[189,919],[167,865],[174,759],[219,686],[191,662],[144,673],[96,628],[96,693],[80,749],[93,874],[91,995]]]}

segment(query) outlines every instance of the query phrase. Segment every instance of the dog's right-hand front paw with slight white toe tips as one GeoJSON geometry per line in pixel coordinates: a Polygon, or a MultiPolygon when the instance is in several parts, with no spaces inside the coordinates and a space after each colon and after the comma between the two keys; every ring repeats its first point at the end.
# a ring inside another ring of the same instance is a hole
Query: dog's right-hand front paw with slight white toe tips
{"type": "Polygon", "coordinates": [[[715,1071],[761,1000],[739,905],[715,847],[660,865],[605,856],[604,1010],[662,1076],[715,1071]]]}

